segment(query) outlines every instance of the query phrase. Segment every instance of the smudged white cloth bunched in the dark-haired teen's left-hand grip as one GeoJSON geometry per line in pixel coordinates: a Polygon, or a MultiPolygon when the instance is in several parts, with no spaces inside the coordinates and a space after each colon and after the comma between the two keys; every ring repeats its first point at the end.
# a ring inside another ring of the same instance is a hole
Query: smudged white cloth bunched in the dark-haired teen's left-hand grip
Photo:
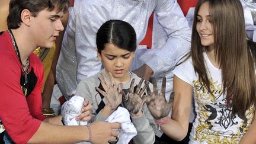
{"type": "Polygon", "coordinates": [[[76,121],[84,106],[84,98],[77,95],[62,105],[62,120],[66,126],[85,126],[87,121],[76,121]]]}

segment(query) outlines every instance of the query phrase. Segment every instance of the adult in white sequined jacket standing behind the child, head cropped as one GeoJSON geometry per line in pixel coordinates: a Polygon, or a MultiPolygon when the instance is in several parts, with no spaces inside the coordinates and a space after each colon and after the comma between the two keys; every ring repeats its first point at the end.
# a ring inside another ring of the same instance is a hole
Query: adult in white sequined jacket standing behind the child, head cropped
{"type": "Polygon", "coordinates": [[[140,43],[152,12],[168,39],[162,47],[137,50],[133,69],[140,68],[134,72],[145,79],[154,75],[159,84],[162,76],[166,76],[169,95],[172,70],[178,58],[190,49],[191,39],[191,30],[177,1],[75,0],[74,7],[69,9],[69,22],[56,68],[57,84],[67,100],[75,94],[78,82],[102,69],[95,50],[95,36],[100,25],[111,19],[127,21],[135,28],[137,43],[140,43]]]}

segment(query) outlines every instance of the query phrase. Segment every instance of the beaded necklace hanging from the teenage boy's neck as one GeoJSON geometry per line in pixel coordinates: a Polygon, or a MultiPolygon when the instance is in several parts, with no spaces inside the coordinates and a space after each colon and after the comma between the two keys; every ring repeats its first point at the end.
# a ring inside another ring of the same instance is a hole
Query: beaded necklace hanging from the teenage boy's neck
{"type": "Polygon", "coordinates": [[[12,44],[13,44],[14,50],[15,50],[17,56],[18,56],[18,59],[20,60],[21,66],[23,67],[23,68],[22,68],[22,71],[23,71],[24,76],[25,76],[25,83],[23,84],[23,86],[24,86],[24,85],[26,85],[26,84],[28,83],[27,75],[28,75],[29,66],[30,66],[30,59],[29,59],[29,57],[28,57],[28,58],[27,58],[27,62],[25,63],[25,65],[23,65],[23,63],[21,62],[20,51],[18,50],[18,46],[17,46],[17,43],[16,43],[16,41],[15,41],[15,38],[14,38],[14,36],[13,36],[13,34],[12,34],[12,31],[9,29],[8,32],[9,32],[9,35],[11,36],[12,44]]]}

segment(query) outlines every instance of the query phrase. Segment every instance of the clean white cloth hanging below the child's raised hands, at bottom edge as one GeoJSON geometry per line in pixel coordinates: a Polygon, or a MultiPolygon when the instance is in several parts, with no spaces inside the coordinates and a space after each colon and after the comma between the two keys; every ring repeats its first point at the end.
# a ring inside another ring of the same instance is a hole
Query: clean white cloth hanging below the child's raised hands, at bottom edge
{"type": "Polygon", "coordinates": [[[117,144],[127,144],[137,135],[137,130],[131,122],[129,111],[126,110],[126,108],[118,107],[105,121],[121,124],[121,131],[117,144]]]}

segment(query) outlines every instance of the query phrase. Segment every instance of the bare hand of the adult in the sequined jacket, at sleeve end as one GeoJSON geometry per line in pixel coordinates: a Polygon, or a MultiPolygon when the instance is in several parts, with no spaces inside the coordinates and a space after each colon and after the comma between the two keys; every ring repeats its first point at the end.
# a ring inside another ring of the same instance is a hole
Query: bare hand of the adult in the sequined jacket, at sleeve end
{"type": "Polygon", "coordinates": [[[140,78],[145,79],[146,81],[149,81],[149,79],[153,75],[152,69],[146,64],[140,66],[140,68],[138,69],[135,69],[133,73],[135,73],[140,78]]]}

